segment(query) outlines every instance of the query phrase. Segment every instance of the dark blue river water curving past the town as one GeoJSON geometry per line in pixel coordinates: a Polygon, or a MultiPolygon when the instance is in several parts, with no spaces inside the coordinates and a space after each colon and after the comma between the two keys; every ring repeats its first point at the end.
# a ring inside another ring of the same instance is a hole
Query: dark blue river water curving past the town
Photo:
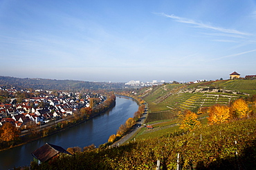
{"type": "Polygon", "coordinates": [[[134,116],[138,110],[136,101],[131,98],[116,96],[116,106],[113,109],[88,120],[80,125],[61,131],[53,136],[29,142],[26,145],[0,152],[0,169],[11,169],[29,165],[33,160],[31,153],[42,147],[46,142],[68,147],[85,147],[94,144],[96,147],[107,142],[109,136],[116,134],[120,125],[134,116]]]}

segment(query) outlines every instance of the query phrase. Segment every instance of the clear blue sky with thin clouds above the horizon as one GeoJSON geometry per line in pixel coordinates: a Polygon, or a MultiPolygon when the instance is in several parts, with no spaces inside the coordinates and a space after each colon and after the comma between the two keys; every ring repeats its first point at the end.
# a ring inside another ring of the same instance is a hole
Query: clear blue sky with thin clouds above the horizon
{"type": "Polygon", "coordinates": [[[256,74],[256,1],[0,1],[0,75],[196,81],[256,74]]]}

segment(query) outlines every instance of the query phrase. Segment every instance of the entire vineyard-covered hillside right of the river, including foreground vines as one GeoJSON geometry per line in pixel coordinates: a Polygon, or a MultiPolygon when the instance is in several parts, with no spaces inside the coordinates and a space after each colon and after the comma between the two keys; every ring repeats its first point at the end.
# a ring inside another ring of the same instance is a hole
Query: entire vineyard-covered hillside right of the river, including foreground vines
{"type": "Polygon", "coordinates": [[[146,123],[154,129],[140,131],[120,147],[85,147],[75,156],[60,156],[31,169],[255,169],[256,108],[255,80],[210,81],[192,85],[163,84],[132,92],[148,104],[146,123]],[[245,98],[250,109],[246,118],[208,125],[208,108],[230,105],[245,98]],[[179,129],[177,114],[190,109],[201,126],[179,129]]]}

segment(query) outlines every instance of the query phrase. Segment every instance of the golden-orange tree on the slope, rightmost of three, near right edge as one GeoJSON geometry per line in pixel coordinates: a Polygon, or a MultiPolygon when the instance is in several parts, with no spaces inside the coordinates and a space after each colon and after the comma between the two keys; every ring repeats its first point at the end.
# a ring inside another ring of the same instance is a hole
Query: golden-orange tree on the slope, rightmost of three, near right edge
{"type": "Polygon", "coordinates": [[[234,118],[245,118],[248,116],[249,107],[243,98],[238,98],[231,104],[231,111],[234,118]]]}

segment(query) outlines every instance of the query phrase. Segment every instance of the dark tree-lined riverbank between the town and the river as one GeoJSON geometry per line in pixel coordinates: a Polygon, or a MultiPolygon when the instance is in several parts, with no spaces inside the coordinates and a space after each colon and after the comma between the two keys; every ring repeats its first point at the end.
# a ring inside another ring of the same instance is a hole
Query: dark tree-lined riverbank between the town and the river
{"type": "Polygon", "coordinates": [[[84,123],[87,120],[91,120],[92,118],[95,118],[96,116],[100,116],[100,114],[115,107],[116,96],[112,95],[105,101],[107,102],[104,102],[100,104],[100,106],[98,105],[97,107],[95,107],[95,109],[92,109],[90,116],[78,112],[73,116],[68,116],[67,118],[64,118],[63,120],[62,119],[57,120],[58,122],[54,123],[53,125],[49,125],[43,128],[36,127],[36,129],[33,129],[33,131],[28,131],[28,134],[26,135],[21,134],[21,136],[19,137],[19,140],[11,141],[11,142],[1,142],[2,148],[0,149],[0,151],[5,151],[14,147],[19,147],[29,142],[39,140],[40,138],[46,138],[48,136],[52,136],[61,131],[65,131],[66,129],[69,129],[71,127],[80,125],[81,123],[84,123]]]}

